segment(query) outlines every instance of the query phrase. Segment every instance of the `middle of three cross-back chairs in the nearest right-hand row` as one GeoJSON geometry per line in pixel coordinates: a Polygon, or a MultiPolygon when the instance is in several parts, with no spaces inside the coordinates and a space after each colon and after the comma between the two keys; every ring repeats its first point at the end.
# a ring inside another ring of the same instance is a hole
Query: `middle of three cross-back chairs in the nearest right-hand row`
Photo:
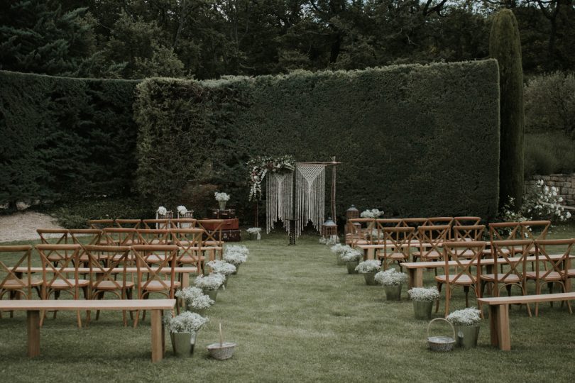
{"type": "MultiPolygon", "coordinates": [[[[494,240],[491,242],[491,256],[493,257],[493,266],[491,272],[481,274],[480,293],[487,284],[492,284],[492,296],[500,296],[500,290],[505,287],[508,296],[511,296],[511,287],[516,286],[525,295],[525,272],[527,271],[527,257],[535,248],[533,240],[494,240]],[[520,253],[515,249],[521,248],[520,253]],[[520,254],[520,255],[517,255],[520,254]],[[517,260],[510,260],[511,257],[518,257],[517,260]],[[501,265],[501,272],[498,272],[498,264],[501,265]],[[505,266],[505,269],[503,268],[505,266]],[[505,271],[504,271],[505,270],[505,271]]],[[[527,304],[527,313],[531,316],[531,309],[527,304]]]]}

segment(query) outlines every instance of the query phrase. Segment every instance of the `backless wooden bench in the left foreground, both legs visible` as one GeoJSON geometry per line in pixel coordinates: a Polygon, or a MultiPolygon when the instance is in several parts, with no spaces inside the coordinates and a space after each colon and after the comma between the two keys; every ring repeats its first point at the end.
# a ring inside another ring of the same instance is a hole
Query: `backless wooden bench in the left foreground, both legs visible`
{"type": "MultiPolygon", "coordinates": [[[[66,310],[150,310],[152,311],[152,362],[162,360],[165,352],[163,310],[172,310],[175,299],[110,299],[110,300],[0,300],[0,311],[26,311],[28,320],[28,356],[40,355],[40,311],[66,310]]],[[[79,333],[80,334],[80,333],[79,333]]],[[[84,333],[82,333],[84,334],[84,333]]]]}

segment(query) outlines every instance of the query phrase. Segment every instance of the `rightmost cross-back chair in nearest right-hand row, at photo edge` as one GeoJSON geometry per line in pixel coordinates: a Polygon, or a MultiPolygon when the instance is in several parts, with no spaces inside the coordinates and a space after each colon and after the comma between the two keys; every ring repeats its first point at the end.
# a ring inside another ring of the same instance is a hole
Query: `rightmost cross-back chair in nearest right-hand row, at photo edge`
{"type": "MultiPolygon", "coordinates": [[[[557,240],[535,240],[535,271],[525,272],[525,278],[529,281],[535,281],[535,294],[541,294],[542,284],[547,283],[549,294],[553,293],[553,284],[559,284],[563,292],[567,292],[567,278],[569,264],[571,262],[571,249],[575,243],[575,238],[557,239],[557,240]],[[559,251],[560,257],[552,258],[552,252],[559,251]],[[549,265],[541,270],[541,263],[549,265]]],[[[571,304],[567,301],[569,313],[571,304]]],[[[535,316],[539,314],[539,304],[535,304],[535,316]]]]}

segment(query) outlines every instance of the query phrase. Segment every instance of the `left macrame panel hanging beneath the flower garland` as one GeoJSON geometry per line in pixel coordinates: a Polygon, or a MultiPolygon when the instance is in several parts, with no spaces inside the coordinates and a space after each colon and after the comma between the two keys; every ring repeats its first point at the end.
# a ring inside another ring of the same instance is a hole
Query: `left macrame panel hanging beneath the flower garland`
{"type": "Polygon", "coordinates": [[[282,220],[285,230],[290,232],[286,221],[292,216],[293,172],[265,174],[265,229],[270,233],[273,224],[282,220]]]}

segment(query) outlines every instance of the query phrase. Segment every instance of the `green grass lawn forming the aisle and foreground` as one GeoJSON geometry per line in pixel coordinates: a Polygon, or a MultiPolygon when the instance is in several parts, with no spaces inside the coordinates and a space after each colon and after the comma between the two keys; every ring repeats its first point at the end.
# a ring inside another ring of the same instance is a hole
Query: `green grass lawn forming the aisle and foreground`
{"type": "MultiPolygon", "coordinates": [[[[562,229],[563,230],[563,229],[562,229]]],[[[553,236],[572,236],[573,228],[553,236]]],[[[41,330],[41,355],[26,357],[26,314],[0,319],[0,377],[3,382],[46,381],[517,381],[573,380],[575,316],[556,304],[540,307],[538,318],[525,308],[510,314],[512,351],[489,343],[484,321],[479,346],[453,353],[427,350],[425,321],[413,318],[412,304],[385,301],[381,287],[336,266],[317,237],[296,246],[287,235],[264,235],[245,242],[248,262],[232,276],[200,331],[195,355],[172,357],[169,337],[162,362],[150,362],[149,318],[124,328],[121,313],[104,312],[89,328],[78,329],[74,313],[49,316],[41,330]],[[231,360],[209,359],[206,346],[217,340],[221,321],[226,340],[238,343],[231,360]]],[[[425,275],[432,284],[433,273],[425,275]]],[[[459,293],[462,294],[462,293],[459,293]]],[[[442,296],[443,297],[443,296],[442,296]]],[[[443,303],[443,300],[442,300],[443,303]]],[[[462,296],[453,309],[464,306],[462,296]]],[[[442,316],[442,305],[438,316],[442,316]]],[[[447,334],[447,326],[432,328],[447,334]]]]}

